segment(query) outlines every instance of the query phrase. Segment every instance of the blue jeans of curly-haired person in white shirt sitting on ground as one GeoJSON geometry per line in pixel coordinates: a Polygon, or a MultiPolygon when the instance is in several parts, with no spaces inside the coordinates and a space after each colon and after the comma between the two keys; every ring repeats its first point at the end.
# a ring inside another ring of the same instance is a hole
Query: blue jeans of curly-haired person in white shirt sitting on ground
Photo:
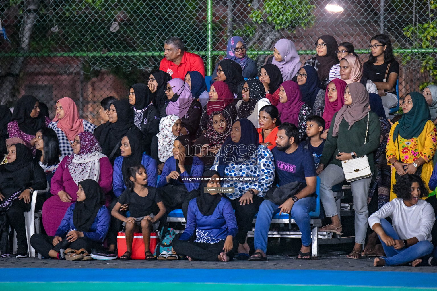
{"type": "MultiPolygon", "coordinates": [[[[381,219],[381,226],[385,234],[391,236],[395,240],[399,240],[398,234],[387,219],[381,219]]],[[[381,237],[379,240],[381,240],[381,237]]],[[[395,266],[412,262],[413,260],[430,254],[434,248],[433,244],[427,240],[422,240],[406,249],[399,250],[396,250],[394,246],[387,246],[382,240],[381,243],[386,256],[386,258],[384,258],[386,266],[395,266]]]]}

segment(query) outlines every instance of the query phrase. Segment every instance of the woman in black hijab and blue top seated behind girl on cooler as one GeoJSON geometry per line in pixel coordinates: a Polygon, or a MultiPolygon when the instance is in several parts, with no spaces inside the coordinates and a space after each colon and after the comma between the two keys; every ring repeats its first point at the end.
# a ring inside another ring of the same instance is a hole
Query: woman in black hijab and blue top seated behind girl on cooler
{"type": "MultiPolygon", "coordinates": [[[[126,176],[128,168],[133,164],[142,164],[146,169],[149,187],[156,187],[158,178],[158,170],[156,161],[153,157],[144,154],[144,144],[135,134],[126,134],[121,139],[121,156],[114,160],[114,172],[112,174],[112,189],[115,199],[109,205],[109,211],[112,211],[121,193],[126,190],[126,176]]],[[[128,177],[127,177],[128,178],[128,177]]],[[[123,205],[121,210],[126,210],[127,205],[123,205]]],[[[121,230],[121,221],[111,216],[111,227],[108,232],[109,252],[114,252],[117,244],[117,233],[121,230]]]]}

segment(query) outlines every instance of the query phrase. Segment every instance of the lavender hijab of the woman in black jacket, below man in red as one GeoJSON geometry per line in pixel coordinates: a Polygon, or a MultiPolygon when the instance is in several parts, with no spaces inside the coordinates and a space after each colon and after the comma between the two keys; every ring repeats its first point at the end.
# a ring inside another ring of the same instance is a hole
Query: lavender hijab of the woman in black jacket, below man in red
{"type": "Polygon", "coordinates": [[[172,87],[174,95],[168,103],[165,112],[167,115],[176,114],[183,118],[188,109],[190,109],[191,103],[193,103],[190,86],[179,78],[171,79],[168,83],[172,87]]]}

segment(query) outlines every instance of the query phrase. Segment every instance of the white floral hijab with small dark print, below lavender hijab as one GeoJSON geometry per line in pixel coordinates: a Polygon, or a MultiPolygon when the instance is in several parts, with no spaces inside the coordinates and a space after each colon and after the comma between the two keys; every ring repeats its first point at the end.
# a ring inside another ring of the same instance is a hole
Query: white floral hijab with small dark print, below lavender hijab
{"type": "Polygon", "coordinates": [[[180,118],[176,114],[161,118],[160,132],[156,136],[158,137],[158,157],[162,162],[167,161],[173,155],[173,142],[177,136],[173,134],[171,128],[178,119],[180,118]]]}

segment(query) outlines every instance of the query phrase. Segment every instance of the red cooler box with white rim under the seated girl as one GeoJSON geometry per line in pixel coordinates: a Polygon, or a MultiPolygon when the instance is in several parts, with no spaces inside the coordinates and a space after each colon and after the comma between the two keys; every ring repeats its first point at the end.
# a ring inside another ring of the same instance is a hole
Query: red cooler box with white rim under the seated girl
{"type": "MultiPolygon", "coordinates": [[[[160,232],[156,231],[150,233],[150,252],[154,253],[156,245],[160,242],[160,232]]],[[[117,233],[117,249],[118,257],[121,257],[126,252],[126,234],[117,233]]],[[[144,254],[144,242],[142,241],[142,233],[134,233],[134,240],[132,242],[132,259],[144,260],[146,255],[144,254]]]]}

